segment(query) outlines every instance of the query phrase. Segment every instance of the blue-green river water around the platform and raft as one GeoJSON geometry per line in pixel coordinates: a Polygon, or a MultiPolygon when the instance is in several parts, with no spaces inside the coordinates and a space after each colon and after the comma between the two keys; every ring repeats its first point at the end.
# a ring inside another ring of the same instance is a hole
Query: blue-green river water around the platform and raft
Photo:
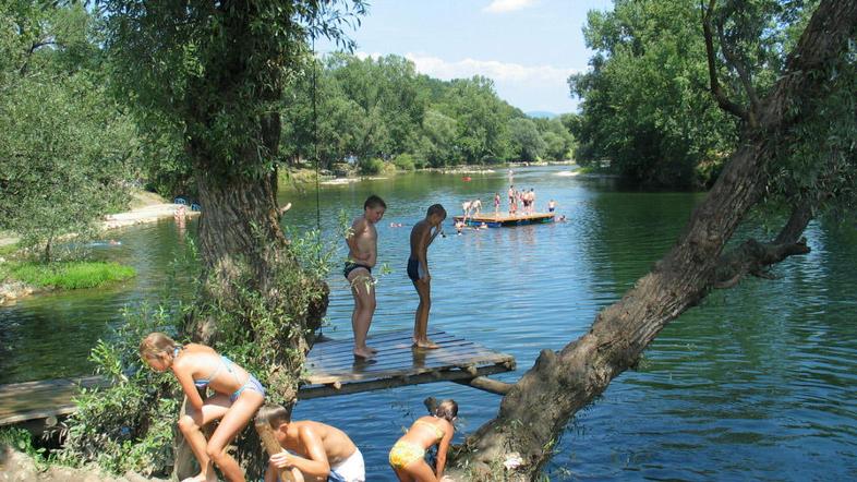
{"type": "MultiPolygon", "coordinates": [[[[437,238],[428,252],[433,279],[430,324],[514,354],[512,382],[544,348],[583,334],[600,309],[617,300],[674,243],[700,194],[616,192],[608,181],[562,176],[567,168],[530,168],[515,183],[535,188],[569,221],[468,231],[437,238]]],[[[417,294],[405,274],[409,227],[433,203],[458,214],[481,197],[505,203],[506,171],[460,176],[418,173],[323,186],[321,225],[337,229],[340,210],[362,212],[370,193],[387,201],[378,225],[381,277],[372,333],[409,328],[417,294]],[[405,227],[393,228],[390,222],[405,227]]],[[[286,224],[316,226],[315,193],[281,193],[292,202],[286,224]]],[[[191,225],[192,232],[195,226],[191,225]]],[[[0,309],[3,383],[70,376],[86,370],[88,348],[117,323],[125,303],[155,298],[168,262],[183,250],[171,221],[132,228],[102,255],[124,260],[141,276],[107,291],[33,297],[0,309]]],[[[778,280],[747,279],[713,292],[668,325],[640,369],[611,384],[578,413],[546,471],[552,480],[831,480],[857,479],[857,233],[813,224],[812,253],[774,269],[778,280]]],[[[343,245],[345,243],[340,243],[343,245]]],[[[331,270],[325,334],[350,336],[352,300],[331,270]]],[[[455,398],[462,433],[496,413],[499,397],[438,383],[303,401],[295,418],[343,430],[366,457],[369,480],[394,480],[386,454],[402,427],[424,412],[427,396],[455,398]]],[[[534,408],[538,409],[538,408],[534,408]]]]}

